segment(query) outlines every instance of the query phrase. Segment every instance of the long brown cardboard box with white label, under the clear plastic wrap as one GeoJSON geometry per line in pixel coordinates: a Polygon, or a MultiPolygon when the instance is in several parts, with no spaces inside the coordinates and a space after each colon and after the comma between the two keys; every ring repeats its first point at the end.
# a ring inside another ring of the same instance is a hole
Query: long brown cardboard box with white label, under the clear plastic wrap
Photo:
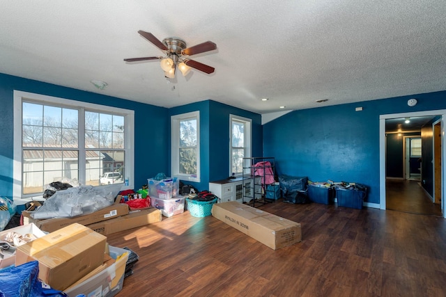
{"type": "MultiPolygon", "coordinates": [[[[119,195],[118,195],[119,198],[119,195]]],[[[85,216],[76,216],[74,218],[48,218],[46,220],[35,220],[31,218],[31,212],[22,211],[24,223],[34,223],[40,230],[46,232],[54,232],[71,225],[72,223],[79,223],[82,225],[90,225],[100,222],[102,220],[109,220],[110,218],[116,218],[118,216],[125,216],[129,212],[128,204],[119,203],[121,198],[116,198],[117,203],[105,207],[92,214],[86,214],[85,216]]]]}

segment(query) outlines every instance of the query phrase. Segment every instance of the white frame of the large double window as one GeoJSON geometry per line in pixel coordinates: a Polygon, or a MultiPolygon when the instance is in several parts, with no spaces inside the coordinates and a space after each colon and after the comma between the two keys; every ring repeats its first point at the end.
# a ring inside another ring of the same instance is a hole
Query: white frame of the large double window
{"type": "MultiPolygon", "coordinates": [[[[33,101],[38,104],[50,104],[54,106],[62,106],[79,111],[93,110],[98,112],[109,112],[124,116],[124,137],[125,137],[125,177],[129,177],[130,184],[128,188],[133,188],[134,180],[134,111],[128,109],[120,109],[112,106],[92,104],[72,99],[64,99],[47,95],[23,92],[14,90],[14,163],[13,163],[13,200],[20,202],[22,198],[42,198],[34,195],[22,195],[22,102],[33,101]]],[[[79,113],[79,131],[84,130],[84,112],[79,113]]],[[[84,137],[79,138],[79,182],[85,179],[85,160],[80,156],[85,155],[84,137]]],[[[24,199],[26,201],[26,199],[24,199]]]]}

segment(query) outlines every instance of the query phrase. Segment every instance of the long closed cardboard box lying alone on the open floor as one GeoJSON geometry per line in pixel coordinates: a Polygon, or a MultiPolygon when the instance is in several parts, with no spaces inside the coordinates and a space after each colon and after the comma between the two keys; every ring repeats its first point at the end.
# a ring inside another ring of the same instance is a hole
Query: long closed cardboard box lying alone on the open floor
{"type": "Polygon", "coordinates": [[[240,202],[214,204],[212,215],[273,250],[302,241],[300,223],[240,202]]]}

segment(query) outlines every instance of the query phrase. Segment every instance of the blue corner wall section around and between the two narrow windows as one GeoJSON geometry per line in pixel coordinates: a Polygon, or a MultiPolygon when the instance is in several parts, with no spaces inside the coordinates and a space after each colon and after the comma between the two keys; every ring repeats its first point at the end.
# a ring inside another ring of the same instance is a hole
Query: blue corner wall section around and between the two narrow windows
{"type": "MultiPolygon", "coordinates": [[[[252,119],[252,154],[262,155],[261,115],[206,100],[169,109],[169,115],[200,111],[201,182],[184,182],[201,190],[209,182],[229,177],[229,115],[252,119]]],[[[169,158],[170,159],[170,158],[169,158]]],[[[170,171],[170,170],[169,170],[170,171]]]]}

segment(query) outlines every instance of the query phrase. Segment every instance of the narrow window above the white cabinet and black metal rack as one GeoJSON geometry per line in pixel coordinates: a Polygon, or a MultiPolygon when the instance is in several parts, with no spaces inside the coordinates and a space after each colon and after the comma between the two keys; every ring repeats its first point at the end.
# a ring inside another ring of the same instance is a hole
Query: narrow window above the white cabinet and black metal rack
{"type": "MultiPolygon", "coordinates": [[[[251,157],[251,120],[236,115],[229,116],[231,145],[229,175],[242,175],[243,158],[251,157]]],[[[246,169],[249,174],[249,168],[246,169]]]]}

